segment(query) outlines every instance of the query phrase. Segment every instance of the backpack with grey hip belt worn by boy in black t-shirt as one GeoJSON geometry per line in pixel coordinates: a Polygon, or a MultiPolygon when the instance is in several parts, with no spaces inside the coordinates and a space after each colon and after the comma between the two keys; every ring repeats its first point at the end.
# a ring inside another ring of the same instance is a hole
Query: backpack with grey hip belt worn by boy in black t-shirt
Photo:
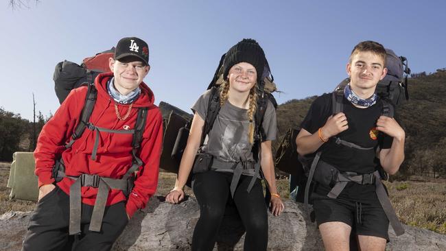
{"type": "MultiPolygon", "coordinates": [[[[395,53],[393,53],[392,50],[386,49],[386,51],[391,53],[391,56],[387,57],[386,64],[389,67],[388,74],[382,81],[380,81],[381,84],[378,83],[377,86],[377,94],[380,97],[380,101],[382,102],[383,108],[382,108],[382,115],[387,117],[394,117],[395,116],[395,107],[399,104],[401,104],[401,95],[402,93],[405,93],[406,100],[408,99],[408,89],[407,89],[407,75],[406,79],[404,80],[404,83],[401,82],[403,80],[403,72],[408,74],[410,73],[410,69],[407,68],[407,60],[406,58],[400,57],[398,58],[395,56],[395,53]],[[395,60],[395,58],[398,58],[401,61],[401,64],[395,64],[395,62],[398,62],[395,60]],[[406,64],[404,64],[404,61],[406,61],[406,64]],[[406,69],[403,69],[403,64],[406,65],[406,69]],[[398,67],[394,67],[397,65],[398,67]],[[401,70],[401,71],[400,71],[401,70]],[[395,74],[397,77],[395,77],[395,74]],[[398,75],[401,73],[401,75],[398,75]],[[401,77],[400,77],[401,76],[401,77]]],[[[342,112],[343,110],[343,99],[344,99],[344,87],[349,83],[350,80],[346,79],[343,80],[338,86],[335,88],[335,91],[332,93],[332,113],[336,114],[338,112],[342,112]]],[[[300,174],[297,178],[296,187],[293,189],[290,187],[290,195],[294,197],[294,200],[297,202],[303,202],[305,204],[305,208],[308,211],[308,204],[309,202],[309,194],[310,191],[313,190],[315,184],[314,180],[318,180],[318,182],[325,182],[325,184],[332,184],[333,187],[330,191],[330,193],[327,195],[331,198],[337,198],[339,193],[342,191],[343,186],[338,184],[341,184],[341,182],[344,182],[343,184],[347,184],[347,182],[357,182],[360,184],[375,184],[377,187],[377,195],[379,198],[379,202],[382,204],[382,207],[384,208],[384,211],[386,213],[386,216],[388,217],[390,224],[392,225],[392,228],[395,230],[395,233],[397,235],[402,235],[404,230],[401,226],[401,223],[399,222],[395,210],[392,208],[390,201],[386,197],[386,192],[384,189],[381,189],[383,186],[381,184],[381,179],[388,178],[387,174],[385,173],[384,169],[380,167],[375,173],[373,174],[355,174],[353,176],[346,176],[344,174],[341,174],[336,168],[329,165],[329,163],[324,163],[322,160],[320,160],[320,155],[322,152],[318,151],[313,154],[308,154],[307,156],[301,156],[297,154],[296,151],[296,137],[294,136],[298,134],[298,131],[300,131],[298,128],[290,128],[290,130],[293,130],[292,133],[285,134],[285,137],[282,140],[281,146],[279,147],[279,151],[277,151],[276,154],[276,165],[281,171],[285,171],[287,169],[292,169],[292,167],[297,168],[298,170],[294,174],[300,174]],[[287,149],[291,148],[291,150],[287,149]],[[296,158],[299,160],[297,163],[292,163],[292,161],[295,161],[296,158]],[[290,168],[289,165],[292,165],[290,168]],[[316,169],[316,166],[318,169],[316,169]],[[323,171],[322,171],[323,170],[323,171]],[[302,175],[305,174],[305,175],[302,175]],[[328,174],[328,178],[327,178],[328,174]],[[331,174],[331,175],[330,175],[331,174]],[[318,178],[318,176],[320,178],[318,178]],[[333,181],[334,180],[334,181],[333,181]],[[305,184],[305,190],[303,189],[305,184]],[[381,186],[381,187],[380,187],[381,186]]],[[[289,132],[290,132],[289,130],[289,132]]],[[[336,139],[336,143],[347,145],[349,147],[357,148],[357,149],[363,149],[358,145],[355,145],[353,143],[350,143],[348,141],[344,141],[340,138],[336,139]]],[[[331,187],[331,185],[330,185],[331,187]]]]}

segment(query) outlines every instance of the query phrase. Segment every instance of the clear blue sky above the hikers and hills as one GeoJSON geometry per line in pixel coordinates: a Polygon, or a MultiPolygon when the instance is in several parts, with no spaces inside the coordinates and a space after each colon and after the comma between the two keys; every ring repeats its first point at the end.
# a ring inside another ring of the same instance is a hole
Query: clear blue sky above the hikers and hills
{"type": "MultiPolygon", "coordinates": [[[[223,53],[243,38],[266,53],[279,104],[320,95],[347,77],[353,47],[375,40],[408,58],[412,73],[446,67],[446,1],[89,1],[0,3],[0,107],[32,120],[54,113],[53,73],[137,36],[150,49],[144,82],[155,104],[190,112],[223,53]]],[[[409,83],[410,84],[410,83],[409,83]]]]}

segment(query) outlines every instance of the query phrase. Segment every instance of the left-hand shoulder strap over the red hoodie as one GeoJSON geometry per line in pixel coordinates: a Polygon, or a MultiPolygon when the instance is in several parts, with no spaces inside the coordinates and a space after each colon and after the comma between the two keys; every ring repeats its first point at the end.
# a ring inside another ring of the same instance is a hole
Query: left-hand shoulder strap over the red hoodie
{"type": "Polygon", "coordinates": [[[76,128],[71,135],[71,141],[65,145],[65,147],[69,148],[71,145],[73,145],[74,141],[76,139],[79,139],[80,136],[84,133],[84,130],[86,128],[86,125],[90,121],[91,112],[93,112],[93,108],[95,108],[97,98],[97,90],[95,88],[95,85],[93,83],[89,83],[89,88],[86,91],[86,97],[84,102],[84,108],[82,108],[82,112],[80,115],[80,121],[78,125],[76,125],[76,128]]]}

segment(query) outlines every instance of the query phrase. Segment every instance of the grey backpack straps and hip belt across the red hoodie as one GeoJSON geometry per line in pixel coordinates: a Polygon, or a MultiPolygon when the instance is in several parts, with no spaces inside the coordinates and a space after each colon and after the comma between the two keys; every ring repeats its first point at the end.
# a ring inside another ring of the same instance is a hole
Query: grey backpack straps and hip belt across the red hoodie
{"type": "MultiPolygon", "coordinates": [[[[126,174],[119,179],[107,178],[92,174],[81,174],[78,177],[73,177],[65,174],[65,166],[62,158],[55,161],[55,165],[52,169],[52,178],[54,178],[56,182],[59,182],[62,180],[62,178],[70,178],[71,180],[75,180],[70,187],[70,200],[73,200],[73,203],[70,203],[69,235],[76,235],[81,232],[81,187],[96,187],[98,189],[89,230],[99,232],[102,226],[102,217],[104,215],[109,190],[119,189],[123,191],[126,198],[128,198],[134,186],[134,173],[139,167],[141,167],[141,165],[143,165],[143,161],[137,156],[137,152],[141,148],[141,141],[143,138],[143,130],[145,128],[148,108],[139,108],[137,121],[135,122],[133,130],[110,130],[108,128],[99,128],[90,123],[90,117],[91,113],[93,112],[96,99],[97,90],[94,83],[90,83],[88,84],[84,108],[82,108],[80,115],[80,122],[75,126],[73,134],[71,134],[71,141],[65,145],[65,148],[68,149],[71,147],[71,145],[73,145],[73,143],[79,139],[80,136],[82,136],[86,128],[96,131],[96,137],[99,136],[99,132],[101,131],[111,133],[132,133],[132,165],[127,170],[126,174]]],[[[96,160],[97,143],[99,142],[97,140],[98,138],[96,138],[95,146],[93,147],[93,152],[91,154],[92,160],[96,160]]]]}

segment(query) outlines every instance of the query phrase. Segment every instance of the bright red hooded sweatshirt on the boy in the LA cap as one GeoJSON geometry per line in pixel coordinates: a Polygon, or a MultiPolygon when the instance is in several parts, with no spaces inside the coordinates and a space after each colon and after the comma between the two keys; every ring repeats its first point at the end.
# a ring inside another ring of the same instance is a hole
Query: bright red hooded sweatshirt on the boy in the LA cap
{"type": "MultiPolygon", "coordinates": [[[[100,128],[112,130],[132,130],[137,120],[138,108],[148,107],[145,130],[141,142],[139,158],[143,165],[139,167],[134,188],[127,201],[126,211],[130,217],[139,208],[144,208],[149,198],[154,195],[158,184],[159,159],[163,142],[163,118],[161,111],[154,103],[154,94],[143,82],[139,85],[141,94],[133,102],[128,119],[117,119],[115,101],[108,95],[106,84],[113,73],[102,73],[95,79],[97,100],[91,114],[90,122],[100,128]]],[[[80,122],[80,114],[84,107],[87,87],[76,88],[68,95],[54,116],[45,124],[38,136],[34,158],[36,159],[36,175],[38,186],[51,184],[51,169],[56,158],[62,159],[67,176],[81,174],[97,174],[102,177],[122,178],[132,165],[132,134],[117,134],[100,132],[99,147],[96,160],[91,160],[91,152],[95,142],[95,132],[88,128],[84,134],[73,143],[71,148],[64,145],[71,140],[75,125],[80,122]]],[[[129,105],[118,104],[121,117],[126,115],[129,105]]],[[[64,178],[57,183],[58,187],[69,195],[69,189],[74,180],[64,178]]],[[[97,188],[82,187],[81,196],[84,204],[95,204],[97,188]]],[[[126,200],[122,191],[112,189],[108,193],[109,206],[126,200]]]]}

